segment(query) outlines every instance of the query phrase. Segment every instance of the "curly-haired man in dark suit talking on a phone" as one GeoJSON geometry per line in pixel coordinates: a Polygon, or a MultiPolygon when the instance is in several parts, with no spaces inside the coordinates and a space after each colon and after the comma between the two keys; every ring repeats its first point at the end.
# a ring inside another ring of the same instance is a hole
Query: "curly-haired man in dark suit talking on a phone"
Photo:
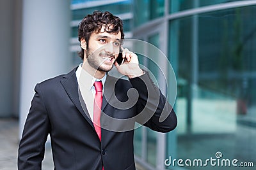
{"type": "Polygon", "coordinates": [[[48,134],[56,170],[135,169],[135,121],[159,132],[177,125],[172,107],[140,69],[137,55],[122,49],[120,18],[95,11],[81,21],[78,36],[83,64],[35,87],[20,140],[19,169],[42,169],[48,134]],[[120,49],[124,64],[116,62],[120,49]],[[113,65],[129,80],[109,76],[113,65]],[[129,100],[133,104],[127,107],[129,100]],[[161,113],[168,114],[163,122],[161,113]]]}

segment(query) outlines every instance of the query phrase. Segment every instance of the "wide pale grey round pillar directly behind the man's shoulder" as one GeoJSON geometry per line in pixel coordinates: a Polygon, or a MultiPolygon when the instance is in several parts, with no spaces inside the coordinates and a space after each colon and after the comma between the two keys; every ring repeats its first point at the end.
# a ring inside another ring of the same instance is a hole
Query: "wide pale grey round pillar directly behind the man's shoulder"
{"type": "Polygon", "coordinates": [[[20,71],[20,136],[36,83],[67,73],[70,1],[24,0],[20,71]]]}

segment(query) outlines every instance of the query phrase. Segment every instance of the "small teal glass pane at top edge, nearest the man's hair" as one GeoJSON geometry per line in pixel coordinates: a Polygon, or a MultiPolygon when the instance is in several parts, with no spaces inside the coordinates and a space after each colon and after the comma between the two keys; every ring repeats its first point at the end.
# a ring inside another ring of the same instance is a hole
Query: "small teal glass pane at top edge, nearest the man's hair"
{"type": "Polygon", "coordinates": [[[134,1],[134,25],[139,26],[155,18],[163,17],[164,0],[134,1]]]}

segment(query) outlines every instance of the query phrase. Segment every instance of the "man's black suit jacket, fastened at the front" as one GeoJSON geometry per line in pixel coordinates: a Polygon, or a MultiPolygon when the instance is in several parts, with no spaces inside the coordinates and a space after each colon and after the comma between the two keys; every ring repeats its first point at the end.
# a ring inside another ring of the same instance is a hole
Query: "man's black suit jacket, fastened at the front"
{"type": "Polygon", "coordinates": [[[104,88],[102,111],[106,115],[103,114],[103,119],[100,120],[102,125],[100,142],[92,120],[87,116],[86,106],[79,100],[76,69],[37,84],[20,140],[19,169],[42,168],[45,141],[50,134],[54,169],[101,170],[104,166],[105,170],[134,170],[134,131],[125,131],[123,128],[127,127],[125,121],[119,121],[122,123],[118,124],[104,117],[128,118],[126,122],[132,127],[134,125],[132,117],[138,113],[150,114],[154,111],[147,122],[141,117],[136,120],[154,131],[169,132],[175,129],[176,115],[172,107],[166,104],[166,98],[152,83],[148,74],[129,81],[107,76],[104,88]],[[132,88],[138,92],[134,90],[128,92],[132,88]],[[125,103],[133,97],[137,102],[129,108],[122,109],[120,108],[122,106],[116,108],[113,104],[109,104],[115,103],[116,99],[125,103]],[[162,111],[170,115],[164,122],[159,122],[162,111]],[[116,125],[113,125],[114,123],[116,125]]]}

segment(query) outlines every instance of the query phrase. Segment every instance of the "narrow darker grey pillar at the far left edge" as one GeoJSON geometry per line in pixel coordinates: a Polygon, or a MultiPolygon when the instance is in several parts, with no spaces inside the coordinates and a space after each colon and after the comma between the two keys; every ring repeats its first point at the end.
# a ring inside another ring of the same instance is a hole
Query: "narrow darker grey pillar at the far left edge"
{"type": "Polygon", "coordinates": [[[0,118],[10,117],[13,77],[13,1],[0,1],[0,118]]]}

